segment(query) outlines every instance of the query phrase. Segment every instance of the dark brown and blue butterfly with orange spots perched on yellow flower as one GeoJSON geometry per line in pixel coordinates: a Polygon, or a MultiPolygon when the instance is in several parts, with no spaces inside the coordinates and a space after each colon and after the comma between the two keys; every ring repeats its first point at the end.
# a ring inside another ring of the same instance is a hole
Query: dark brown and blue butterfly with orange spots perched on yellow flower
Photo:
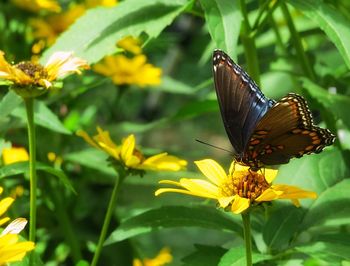
{"type": "Polygon", "coordinates": [[[313,124],[305,99],[289,93],[268,99],[223,51],[213,53],[215,90],[222,120],[238,163],[258,170],[293,157],[320,153],[335,136],[313,124]]]}

